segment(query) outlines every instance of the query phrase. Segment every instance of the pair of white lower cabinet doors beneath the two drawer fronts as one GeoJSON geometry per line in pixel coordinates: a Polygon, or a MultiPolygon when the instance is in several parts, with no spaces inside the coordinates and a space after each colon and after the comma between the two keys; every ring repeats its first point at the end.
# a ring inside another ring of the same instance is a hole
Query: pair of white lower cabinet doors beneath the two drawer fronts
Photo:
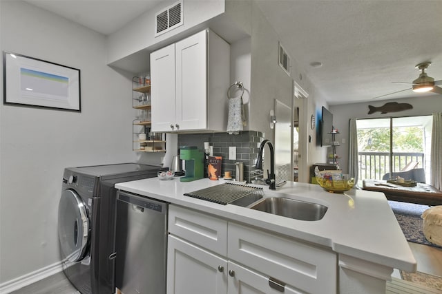
{"type": "Polygon", "coordinates": [[[169,235],[168,294],[302,293],[169,235]]]}

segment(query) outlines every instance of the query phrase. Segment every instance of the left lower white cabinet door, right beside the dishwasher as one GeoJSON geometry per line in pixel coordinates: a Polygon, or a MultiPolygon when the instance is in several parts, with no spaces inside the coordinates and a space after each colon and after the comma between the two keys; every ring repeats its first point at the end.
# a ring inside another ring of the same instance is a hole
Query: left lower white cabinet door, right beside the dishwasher
{"type": "Polygon", "coordinates": [[[227,260],[169,235],[167,294],[227,294],[227,260]]]}

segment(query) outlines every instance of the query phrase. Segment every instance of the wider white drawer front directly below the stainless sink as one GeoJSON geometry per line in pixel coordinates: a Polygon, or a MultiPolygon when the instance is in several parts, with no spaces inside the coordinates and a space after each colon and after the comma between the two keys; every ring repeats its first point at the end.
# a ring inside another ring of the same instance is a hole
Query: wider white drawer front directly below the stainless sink
{"type": "Polygon", "coordinates": [[[332,251],[229,222],[229,260],[307,293],[336,293],[332,251]]]}

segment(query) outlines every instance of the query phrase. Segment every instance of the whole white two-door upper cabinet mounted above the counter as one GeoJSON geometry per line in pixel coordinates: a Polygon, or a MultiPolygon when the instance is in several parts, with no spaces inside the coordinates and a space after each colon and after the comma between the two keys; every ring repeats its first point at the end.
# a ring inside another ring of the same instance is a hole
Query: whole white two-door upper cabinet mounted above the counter
{"type": "Polygon", "coordinates": [[[204,30],[151,54],[152,132],[225,131],[230,45],[204,30]]]}

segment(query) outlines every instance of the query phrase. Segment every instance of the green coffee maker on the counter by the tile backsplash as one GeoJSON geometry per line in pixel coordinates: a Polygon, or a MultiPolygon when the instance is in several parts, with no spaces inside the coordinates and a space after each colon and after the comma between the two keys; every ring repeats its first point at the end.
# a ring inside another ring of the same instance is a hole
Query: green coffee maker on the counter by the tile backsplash
{"type": "Polygon", "coordinates": [[[204,177],[204,156],[196,146],[180,147],[180,159],[185,160],[186,175],[180,178],[181,182],[191,182],[204,177]]]}

